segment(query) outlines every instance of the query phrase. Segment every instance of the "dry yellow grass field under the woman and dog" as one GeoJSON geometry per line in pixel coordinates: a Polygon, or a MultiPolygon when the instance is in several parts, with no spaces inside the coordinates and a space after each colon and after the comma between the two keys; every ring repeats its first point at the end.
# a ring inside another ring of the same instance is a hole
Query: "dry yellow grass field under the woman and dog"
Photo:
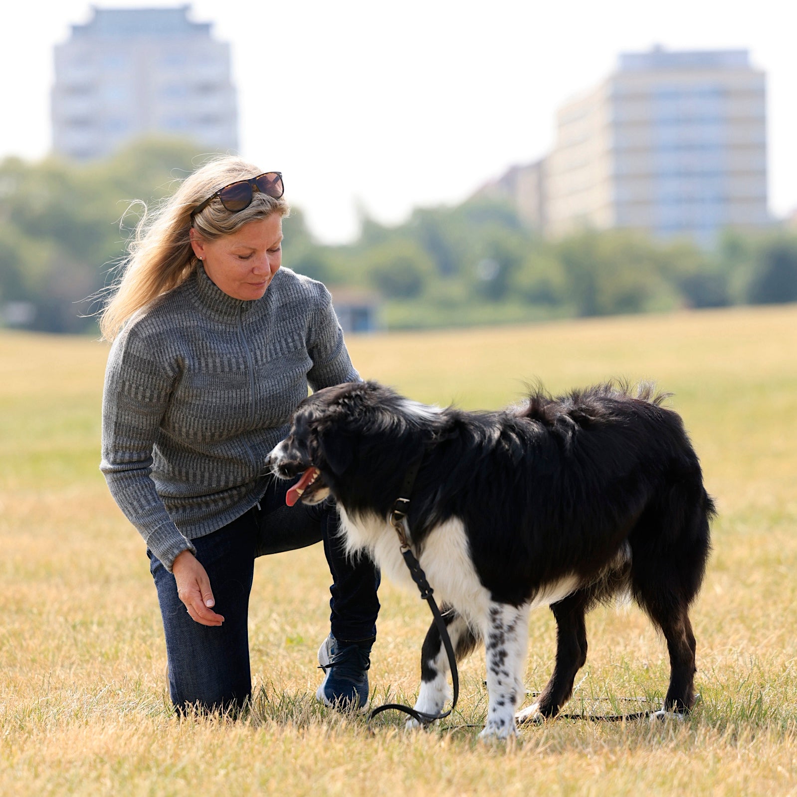
{"type": "MultiPolygon", "coordinates": [[[[177,719],[144,546],[97,469],[107,349],[2,333],[0,794],[797,795],[797,306],[352,337],[349,347],[363,376],[465,408],[509,403],[538,378],[555,392],[650,378],[674,393],[720,511],[693,610],[693,716],[558,720],[481,744],[477,653],[450,721],[407,734],[387,716],[371,733],[313,700],[329,580],[316,546],[257,562],[249,714],[177,719]]],[[[374,700],[412,700],[428,611],[390,585],[381,597],[374,700]]],[[[552,667],[554,629],[547,610],[531,622],[533,691],[552,667]]],[[[661,700],[665,649],[638,610],[596,611],[588,630],[571,710],[661,700]]]]}

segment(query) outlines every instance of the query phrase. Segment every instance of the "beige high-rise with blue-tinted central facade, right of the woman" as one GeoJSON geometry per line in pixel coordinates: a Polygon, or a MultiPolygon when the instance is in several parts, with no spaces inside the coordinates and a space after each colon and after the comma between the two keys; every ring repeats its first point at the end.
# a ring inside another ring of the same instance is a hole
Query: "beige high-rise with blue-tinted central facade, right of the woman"
{"type": "Polygon", "coordinates": [[[769,222],[765,76],[746,50],[620,56],[563,105],[545,162],[546,227],[631,227],[711,243],[769,222]]]}

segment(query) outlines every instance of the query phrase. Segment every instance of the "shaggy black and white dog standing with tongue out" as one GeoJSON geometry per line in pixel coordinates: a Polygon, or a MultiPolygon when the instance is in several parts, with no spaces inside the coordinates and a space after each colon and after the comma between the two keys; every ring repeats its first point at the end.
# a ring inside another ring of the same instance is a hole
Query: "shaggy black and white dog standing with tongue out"
{"type": "MultiPolygon", "coordinates": [[[[712,499],[681,418],[651,389],[599,385],[552,398],[533,393],[503,412],[438,409],[374,382],[320,390],[297,408],[269,456],[300,480],[288,502],[332,495],[348,550],[414,589],[389,523],[405,471],[414,479],[407,524],[446,611],[457,660],[485,642],[489,708],[483,737],[516,720],[555,716],[587,657],[584,615],[626,592],[669,649],[663,712],[693,706],[695,639],[689,605],[709,554],[712,499]],[[556,665],[539,700],[523,700],[528,612],[551,606],[556,665]]],[[[415,708],[449,697],[448,661],[434,624],[421,657],[415,708]]],[[[662,713],[663,713],[662,712],[662,713]]]]}

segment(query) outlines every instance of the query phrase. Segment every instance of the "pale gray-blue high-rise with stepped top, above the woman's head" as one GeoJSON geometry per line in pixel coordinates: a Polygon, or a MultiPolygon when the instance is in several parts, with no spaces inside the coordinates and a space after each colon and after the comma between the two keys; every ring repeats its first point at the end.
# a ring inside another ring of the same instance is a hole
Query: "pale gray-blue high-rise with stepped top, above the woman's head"
{"type": "Polygon", "coordinates": [[[94,9],[55,48],[53,148],[88,160],[147,133],[193,138],[213,151],[238,148],[230,45],[190,6],[94,9]]]}

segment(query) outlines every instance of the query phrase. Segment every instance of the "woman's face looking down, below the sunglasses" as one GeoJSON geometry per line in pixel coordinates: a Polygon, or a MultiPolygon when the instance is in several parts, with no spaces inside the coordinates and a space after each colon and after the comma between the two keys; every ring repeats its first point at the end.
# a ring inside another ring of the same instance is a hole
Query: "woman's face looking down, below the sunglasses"
{"type": "Polygon", "coordinates": [[[282,262],[282,217],[272,213],[213,241],[193,228],[191,247],[219,290],[251,301],[265,294],[282,262]]]}

